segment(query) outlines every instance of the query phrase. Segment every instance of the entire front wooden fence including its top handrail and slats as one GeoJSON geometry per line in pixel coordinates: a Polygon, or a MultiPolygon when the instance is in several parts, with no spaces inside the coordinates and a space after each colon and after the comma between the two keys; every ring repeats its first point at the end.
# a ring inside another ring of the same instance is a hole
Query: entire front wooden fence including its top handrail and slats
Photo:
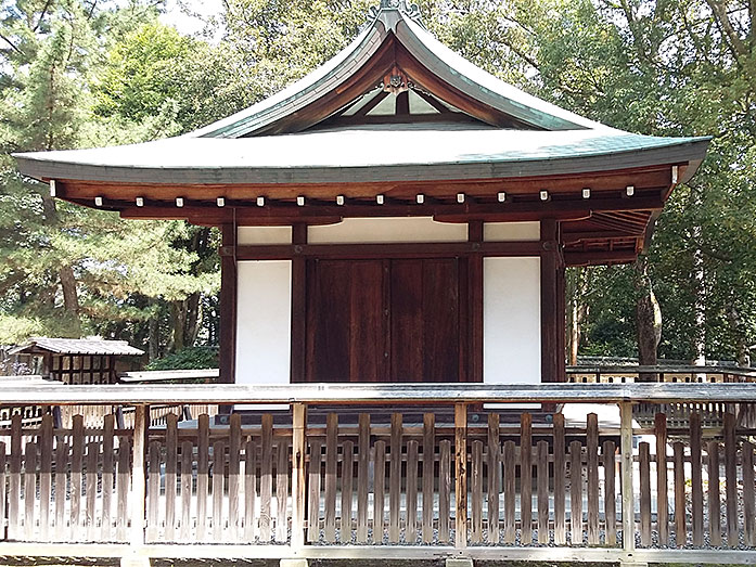
{"type": "Polygon", "coordinates": [[[756,562],[754,431],[726,414],[704,441],[694,413],[670,447],[664,414],[632,423],[640,401],[754,402],[753,385],[180,388],[7,388],[136,410],[133,428],[0,430],[0,555],[756,562]],[[281,409],[146,426],[171,397],[281,409]],[[487,405],[585,402],[619,427],[487,405]]]}

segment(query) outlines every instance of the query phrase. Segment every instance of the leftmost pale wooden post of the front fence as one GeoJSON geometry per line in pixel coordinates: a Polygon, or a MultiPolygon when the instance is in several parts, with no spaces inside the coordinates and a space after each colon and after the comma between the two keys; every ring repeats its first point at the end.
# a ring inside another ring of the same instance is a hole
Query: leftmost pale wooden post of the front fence
{"type": "Polygon", "coordinates": [[[145,474],[144,451],[148,437],[148,405],[136,405],[133,413],[133,444],[131,459],[131,530],[129,533],[128,555],[121,557],[121,567],[150,565],[150,558],[139,554],[139,547],[144,545],[144,512],[145,512],[145,474]]]}

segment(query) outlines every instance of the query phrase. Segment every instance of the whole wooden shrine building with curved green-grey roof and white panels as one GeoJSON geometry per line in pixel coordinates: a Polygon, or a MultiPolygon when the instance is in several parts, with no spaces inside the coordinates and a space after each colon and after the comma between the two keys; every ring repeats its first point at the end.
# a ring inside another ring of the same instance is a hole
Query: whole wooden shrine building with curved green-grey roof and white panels
{"type": "Polygon", "coordinates": [[[16,155],[53,195],[222,229],[221,379],[564,379],[564,270],[632,261],[707,138],[617,130],[382,0],[331,61],[185,136],[16,155]]]}

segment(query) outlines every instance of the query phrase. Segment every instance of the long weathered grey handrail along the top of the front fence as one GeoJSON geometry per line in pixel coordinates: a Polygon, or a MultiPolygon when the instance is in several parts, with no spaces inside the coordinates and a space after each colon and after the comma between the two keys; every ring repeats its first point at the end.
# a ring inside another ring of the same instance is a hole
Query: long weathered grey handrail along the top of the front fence
{"type": "Polygon", "coordinates": [[[291,384],[34,385],[0,388],[0,405],[166,403],[756,402],[756,384],[291,384]]]}

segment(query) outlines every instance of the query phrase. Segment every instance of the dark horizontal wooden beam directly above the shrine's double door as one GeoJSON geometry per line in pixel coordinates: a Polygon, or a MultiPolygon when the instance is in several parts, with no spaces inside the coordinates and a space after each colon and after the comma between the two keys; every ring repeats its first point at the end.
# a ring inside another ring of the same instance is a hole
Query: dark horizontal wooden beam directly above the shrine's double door
{"type": "MultiPolygon", "coordinates": [[[[238,260],[287,260],[317,258],[436,258],[439,256],[538,256],[540,242],[440,242],[389,244],[273,244],[238,246],[238,260]]],[[[233,255],[222,247],[221,255],[233,255]]]]}

